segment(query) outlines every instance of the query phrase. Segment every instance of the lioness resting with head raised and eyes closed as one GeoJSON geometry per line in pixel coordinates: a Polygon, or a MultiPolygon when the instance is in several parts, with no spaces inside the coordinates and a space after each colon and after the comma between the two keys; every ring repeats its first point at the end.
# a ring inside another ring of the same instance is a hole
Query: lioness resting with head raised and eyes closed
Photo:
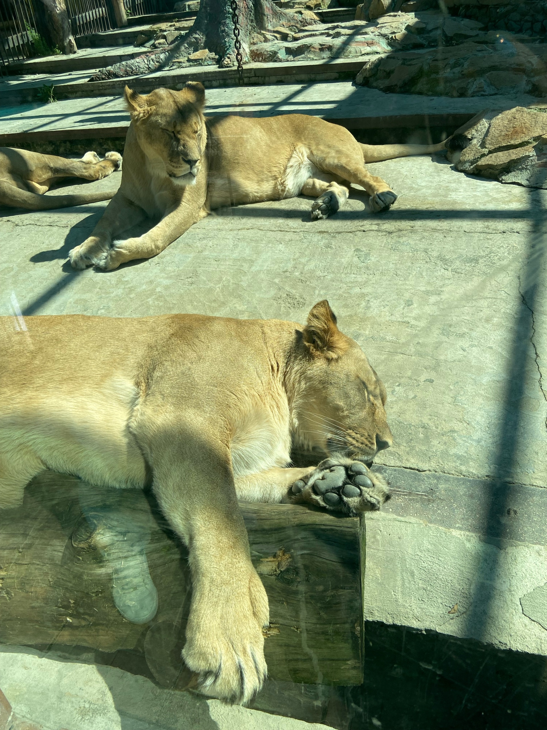
{"type": "Polygon", "coordinates": [[[116,269],[150,258],[213,210],[226,205],[314,196],[311,218],[327,218],[344,204],[350,183],[371,196],[373,212],[397,199],[365,162],[422,155],[440,145],[361,145],[344,127],[288,114],[252,119],[203,117],[205,92],[197,82],[182,91],[147,96],[125,87],[131,125],[125,141],[120,190],[90,237],[73,248],[74,269],[116,269]],[[117,241],[149,216],[157,226],[117,241]]]}

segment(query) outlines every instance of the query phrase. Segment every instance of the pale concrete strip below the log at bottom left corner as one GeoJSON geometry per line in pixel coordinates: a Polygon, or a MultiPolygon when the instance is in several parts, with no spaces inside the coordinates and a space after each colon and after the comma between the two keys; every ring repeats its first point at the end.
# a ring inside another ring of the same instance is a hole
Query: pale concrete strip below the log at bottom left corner
{"type": "Polygon", "coordinates": [[[0,651],[0,686],[18,717],[42,730],[327,730],[24,647],[0,651]]]}

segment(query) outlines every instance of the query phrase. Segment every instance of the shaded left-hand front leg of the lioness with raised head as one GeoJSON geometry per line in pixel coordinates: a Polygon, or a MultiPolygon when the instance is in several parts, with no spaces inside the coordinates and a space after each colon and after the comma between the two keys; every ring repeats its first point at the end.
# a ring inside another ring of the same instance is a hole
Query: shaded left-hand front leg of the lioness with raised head
{"type": "Polygon", "coordinates": [[[117,191],[90,237],[69,251],[72,268],[86,269],[103,261],[104,254],[112,247],[112,239],[131,226],[141,223],[144,218],[146,218],[144,210],[125,197],[121,191],[117,191]]]}

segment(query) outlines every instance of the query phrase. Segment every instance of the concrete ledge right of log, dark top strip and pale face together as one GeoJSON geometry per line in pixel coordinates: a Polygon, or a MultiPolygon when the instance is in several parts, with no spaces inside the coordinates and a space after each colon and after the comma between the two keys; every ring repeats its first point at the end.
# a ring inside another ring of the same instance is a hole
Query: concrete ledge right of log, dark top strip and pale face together
{"type": "Polygon", "coordinates": [[[367,515],[365,621],[547,656],[547,490],[384,467],[367,515]]]}

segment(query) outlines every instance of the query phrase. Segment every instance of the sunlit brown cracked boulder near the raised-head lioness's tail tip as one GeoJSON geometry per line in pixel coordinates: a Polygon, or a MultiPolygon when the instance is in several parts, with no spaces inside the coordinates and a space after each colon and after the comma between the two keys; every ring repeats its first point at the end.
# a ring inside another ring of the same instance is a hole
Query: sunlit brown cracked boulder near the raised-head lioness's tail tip
{"type": "Polygon", "coordinates": [[[477,115],[447,146],[449,160],[461,172],[547,188],[547,107],[477,115]]]}

